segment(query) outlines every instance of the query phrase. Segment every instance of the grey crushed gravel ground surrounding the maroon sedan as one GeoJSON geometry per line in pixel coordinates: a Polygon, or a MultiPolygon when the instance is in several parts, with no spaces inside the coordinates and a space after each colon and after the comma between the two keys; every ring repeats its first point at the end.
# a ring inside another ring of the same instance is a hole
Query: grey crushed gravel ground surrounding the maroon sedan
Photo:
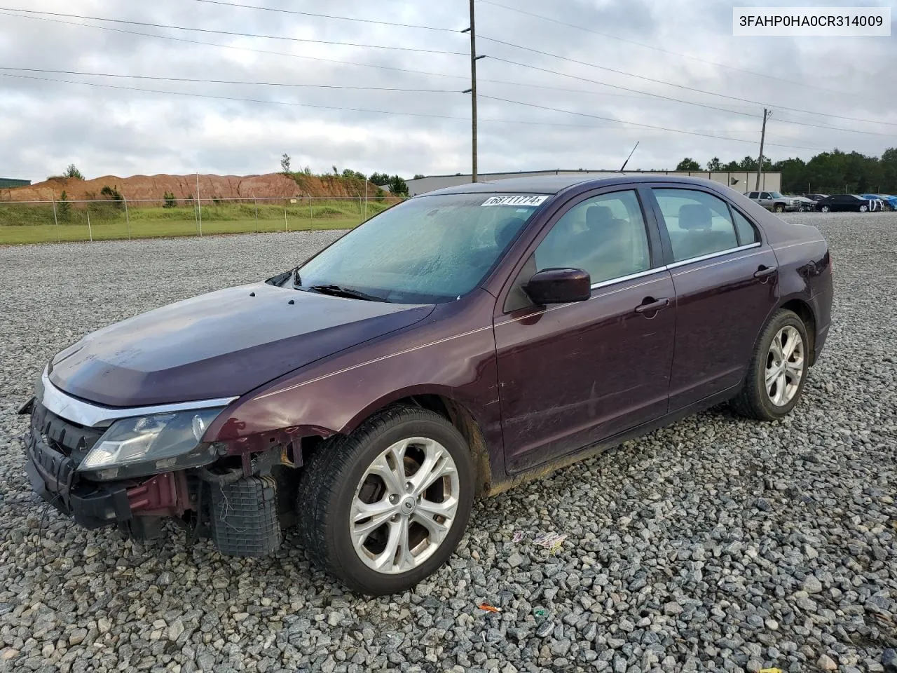
{"type": "Polygon", "coordinates": [[[333,232],[0,249],[0,669],[897,670],[897,214],[787,217],[823,230],[836,287],[793,415],[715,409],[479,503],[447,567],[376,600],[290,537],[239,560],[75,528],[35,502],[15,441],[31,381],[83,332],[333,232]]]}

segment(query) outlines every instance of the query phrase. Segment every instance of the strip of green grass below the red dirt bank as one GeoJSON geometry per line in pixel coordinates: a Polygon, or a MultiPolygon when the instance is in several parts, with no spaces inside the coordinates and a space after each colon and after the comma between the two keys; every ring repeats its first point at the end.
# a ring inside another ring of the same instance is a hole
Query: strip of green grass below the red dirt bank
{"type": "MultiPolygon", "coordinates": [[[[361,223],[357,201],[308,202],[283,205],[252,204],[203,205],[203,235],[249,232],[312,231],[352,229],[361,223]],[[314,216],[312,216],[312,214],[314,216]]],[[[368,202],[368,217],[388,207],[386,203],[368,202]]],[[[58,203],[57,203],[58,208],[58,203]]],[[[57,210],[57,216],[59,212],[57,210]]],[[[108,203],[69,206],[67,217],[59,224],[48,205],[15,205],[0,202],[0,245],[49,243],[71,240],[144,239],[168,236],[196,236],[198,226],[195,209],[135,208],[128,210],[108,203]],[[91,226],[87,225],[90,213],[91,226]]]]}

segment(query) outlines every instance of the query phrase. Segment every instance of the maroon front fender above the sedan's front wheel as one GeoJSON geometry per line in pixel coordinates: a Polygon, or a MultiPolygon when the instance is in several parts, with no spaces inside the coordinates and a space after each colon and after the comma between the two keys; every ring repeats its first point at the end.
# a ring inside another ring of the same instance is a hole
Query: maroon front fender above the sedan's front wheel
{"type": "Polygon", "coordinates": [[[440,395],[480,426],[492,469],[501,461],[494,298],[443,304],[412,328],[312,363],[248,393],[210,424],[205,441],[234,447],[351,433],[397,399],[440,395]],[[259,438],[263,441],[259,442],[259,438]]]}

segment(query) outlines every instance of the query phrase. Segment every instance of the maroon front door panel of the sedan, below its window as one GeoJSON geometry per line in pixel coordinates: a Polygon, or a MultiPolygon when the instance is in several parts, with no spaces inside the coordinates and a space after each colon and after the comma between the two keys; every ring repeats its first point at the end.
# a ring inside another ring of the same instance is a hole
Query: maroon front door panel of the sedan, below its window
{"type": "Polygon", "coordinates": [[[666,414],[674,300],[669,273],[658,269],[596,288],[588,302],[496,321],[509,472],[666,414]],[[661,298],[666,309],[635,312],[661,298]]]}

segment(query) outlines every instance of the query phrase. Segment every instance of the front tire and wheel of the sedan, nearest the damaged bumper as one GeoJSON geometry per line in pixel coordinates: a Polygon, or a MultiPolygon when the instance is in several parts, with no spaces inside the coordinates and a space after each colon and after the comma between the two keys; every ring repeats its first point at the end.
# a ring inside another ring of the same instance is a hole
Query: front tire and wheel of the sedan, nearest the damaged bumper
{"type": "Polygon", "coordinates": [[[442,416],[396,406],[326,441],[303,468],[300,537],[318,566],[372,596],[414,587],[455,551],[475,468],[442,416]]]}

